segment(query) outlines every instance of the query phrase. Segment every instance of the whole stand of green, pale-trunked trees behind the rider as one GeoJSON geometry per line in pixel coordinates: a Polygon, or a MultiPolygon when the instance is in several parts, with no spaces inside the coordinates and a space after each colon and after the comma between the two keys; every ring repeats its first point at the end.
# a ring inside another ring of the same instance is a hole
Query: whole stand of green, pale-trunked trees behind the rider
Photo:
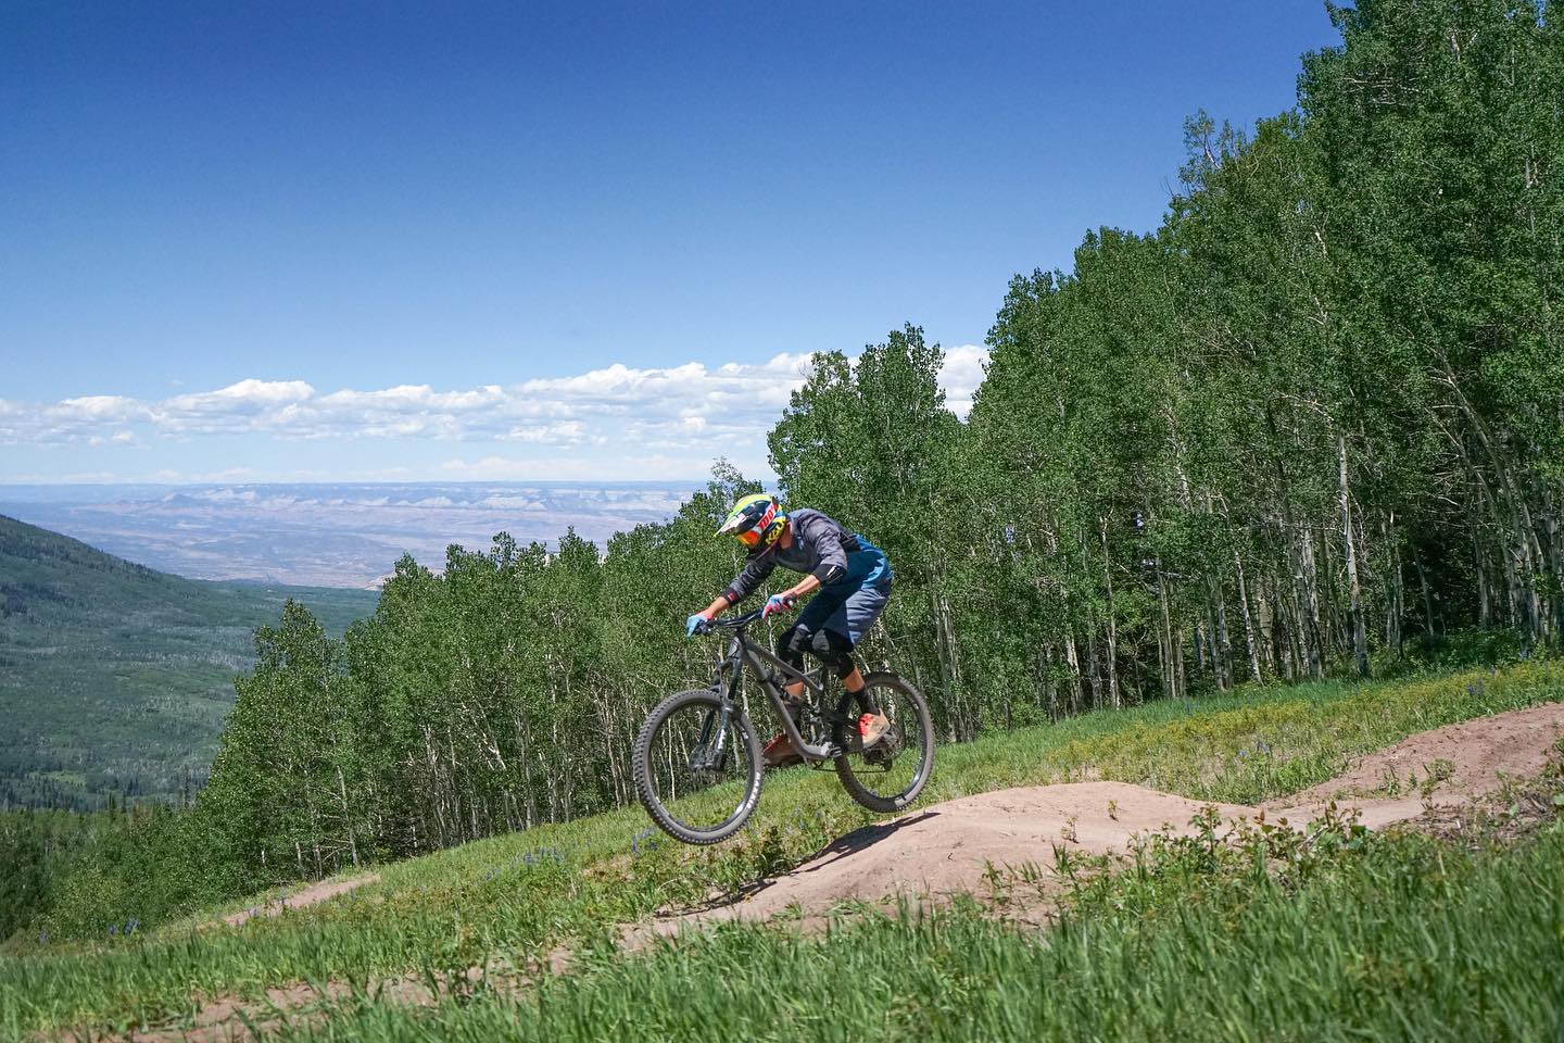
{"type": "MultiPolygon", "coordinates": [[[[1150,235],[1015,278],[968,419],[917,327],[821,353],[769,433],[785,505],[882,546],[865,658],[943,741],[1243,680],[1368,672],[1447,632],[1564,633],[1564,11],[1359,0],[1293,111],[1189,122],[1150,235]]],[[[289,605],[180,829],[235,893],[630,799],[630,741],[715,647],[718,464],[605,547],[397,565],[328,640],[289,605]]]]}

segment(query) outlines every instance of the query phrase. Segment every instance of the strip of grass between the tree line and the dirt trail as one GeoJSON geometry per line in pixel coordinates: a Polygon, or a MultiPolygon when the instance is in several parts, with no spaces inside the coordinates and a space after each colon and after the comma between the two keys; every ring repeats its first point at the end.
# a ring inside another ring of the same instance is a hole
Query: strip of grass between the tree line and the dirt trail
{"type": "MultiPolygon", "coordinates": [[[[1085,774],[1254,801],[1322,782],[1411,732],[1550,699],[1564,699],[1564,666],[1541,661],[1157,702],[942,747],[923,802],[1085,774]]],[[[791,769],[766,779],[752,826],[715,849],[647,837],[644,813],[624,808],[383,866],[377,885],[241,929],[200,927],[200,916],[130,938],[28,935],[0,955],[0,1034],[147,1024],[186,1016],[203,998],[299,980],[521,966],[785,869],[871,818],[834,776],[791,769]]]]}

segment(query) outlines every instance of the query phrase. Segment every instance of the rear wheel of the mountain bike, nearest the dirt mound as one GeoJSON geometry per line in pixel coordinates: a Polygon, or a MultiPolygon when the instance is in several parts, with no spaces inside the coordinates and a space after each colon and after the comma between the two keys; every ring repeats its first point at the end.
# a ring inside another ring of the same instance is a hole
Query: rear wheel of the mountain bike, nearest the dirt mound
{"type": "Polygon", "coordinates": [[[837,777],[854,801],[871,812],[899,812],[918,799],[934,771],[934,721],[929,704],[896,674],[866,674],[863,691],[843,693],[830,741],[837,777]],[[884,713],[890,729],[868,749],[859,740],[859,716],[884,713]]]}

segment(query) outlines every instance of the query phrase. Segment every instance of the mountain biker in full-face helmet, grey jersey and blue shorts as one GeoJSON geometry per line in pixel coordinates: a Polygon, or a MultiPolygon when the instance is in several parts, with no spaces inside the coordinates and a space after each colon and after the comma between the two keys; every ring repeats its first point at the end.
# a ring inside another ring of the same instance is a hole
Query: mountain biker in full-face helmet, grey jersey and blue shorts
{"type": "MultiPolygon", "coordinates": [[[[749,547],[748,561],[726,591],[685,621],[687,635],[694,635],[719,613],[749,597],[780,565],[805,575],[768,597],[762,618],[791,611],[799,599],[820,593],[777,640],[777,658],[801,671],[809,652],[834,669],[849,693],[862,691],[863,674],[852,661],[852,649],[879,619],[890,597],[893,577],[885,554],[816,510],[805,507],[784,513],[776,497],[765,494],[746,496],[734,504],[727,521],[716,530],[718,536],[727,533],[749,547]]],[[[804,683],[793,682],[785,693],[796,719],[804,683]]],[[[877,743],[888,727],[890,721],[881,713],[862,715],[859,735],[863,749],[877,743]]],[[[787,732],[766,743],[765,758],[773,768],[804,760],[787,732]]]]}

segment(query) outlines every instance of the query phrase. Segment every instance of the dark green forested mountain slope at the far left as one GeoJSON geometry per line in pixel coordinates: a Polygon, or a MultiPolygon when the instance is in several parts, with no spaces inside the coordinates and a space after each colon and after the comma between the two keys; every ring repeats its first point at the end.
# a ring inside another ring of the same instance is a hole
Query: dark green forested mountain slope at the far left
{"type": "Polygon", "coordinates": [[[283,600],[341,633],[361,590],[186,580],[0,516],[0,807],[100,807],[199,780],[283,600]]]}

